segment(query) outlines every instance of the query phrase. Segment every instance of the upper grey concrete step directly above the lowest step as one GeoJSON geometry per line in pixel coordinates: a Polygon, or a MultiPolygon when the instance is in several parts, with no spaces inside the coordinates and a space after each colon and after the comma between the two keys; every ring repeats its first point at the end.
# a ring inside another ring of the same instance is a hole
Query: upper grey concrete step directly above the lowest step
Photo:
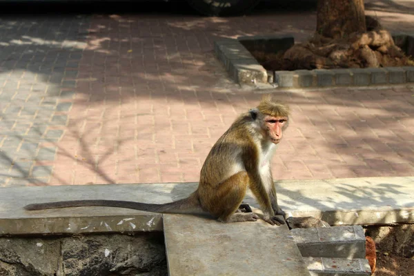
{"type": "Polygon", "coordinates": [[[297,228],[291,232],[303,257],[365,258],[362,226],[297,228]]]}

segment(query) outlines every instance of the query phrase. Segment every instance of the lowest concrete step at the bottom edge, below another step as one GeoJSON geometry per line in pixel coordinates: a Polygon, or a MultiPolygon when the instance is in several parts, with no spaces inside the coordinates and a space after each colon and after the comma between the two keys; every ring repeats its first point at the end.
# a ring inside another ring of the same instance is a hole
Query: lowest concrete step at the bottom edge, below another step
{"type": "Polygon", "coordinates": [[[369,276],[371,268],[366,259],[304,257],[312,276],[369,276]]]}

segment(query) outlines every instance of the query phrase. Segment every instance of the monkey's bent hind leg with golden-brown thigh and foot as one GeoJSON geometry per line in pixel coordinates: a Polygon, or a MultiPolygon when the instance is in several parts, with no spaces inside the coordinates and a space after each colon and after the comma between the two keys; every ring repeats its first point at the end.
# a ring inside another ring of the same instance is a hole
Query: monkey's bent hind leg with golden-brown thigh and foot
{"type": "MultiPolygon", "coordinates": [[[[210,197],[210,212],[219,221],[256,221],[259,217],[255,213],[236,213],[246,195],[248,185],[247,172],[238,172],[223,181],[210,197]]],[[[250,206],[249,206],[250,208],[250,206]]]]}

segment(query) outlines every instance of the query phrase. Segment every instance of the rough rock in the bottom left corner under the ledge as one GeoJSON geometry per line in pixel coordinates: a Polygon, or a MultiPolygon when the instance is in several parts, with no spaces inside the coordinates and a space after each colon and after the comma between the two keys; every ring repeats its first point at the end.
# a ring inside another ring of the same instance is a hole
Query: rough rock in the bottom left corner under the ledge
{"type": "Polygon", "coordinates": [[[54,276],[59,268],[56,239],[0,238],[0,276],[54,276]]]}

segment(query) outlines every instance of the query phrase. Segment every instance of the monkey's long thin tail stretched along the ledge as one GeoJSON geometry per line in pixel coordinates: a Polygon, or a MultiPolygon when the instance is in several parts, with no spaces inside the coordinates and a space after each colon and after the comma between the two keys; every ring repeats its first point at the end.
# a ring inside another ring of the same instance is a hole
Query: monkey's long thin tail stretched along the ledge
{"type": "Polygon", "coordinates": [[[86,199],[86,200],[70,200],[70,201],[56,201],[39,204],[28,204],[23,208],[25,210],[44,210],[52,208],[68,208],[68,207],[83,207],[83,206],[105,206],[128,208],[135,210],[143,210],[154,213],[205,213],[201,208],[199,199],[195,193],[185,199],[180,199],[166,204],[146,204],[135,201],[121,201],[121,200],[106,200],[106,199],[86,199]]]}

